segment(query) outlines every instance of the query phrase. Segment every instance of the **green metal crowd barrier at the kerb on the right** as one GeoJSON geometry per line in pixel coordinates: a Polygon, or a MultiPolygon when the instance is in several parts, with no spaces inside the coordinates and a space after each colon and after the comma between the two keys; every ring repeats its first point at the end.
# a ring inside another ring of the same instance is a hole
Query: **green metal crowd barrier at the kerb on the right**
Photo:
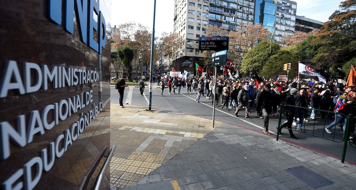
{"type": "MultiPolygon", "coordinates": [[[[286,105],[281,104],[280,108],[281,109],[279,111],[278,127],[277,127],[278,131],[277,131],[276,140],[278,140],[278,138],[279,138],[279,130],[281,128],[286,128],[289,130],[294,130],[297,132],[313,135],[314,137],[319,137],[319,138],[331,140],[334,142],[340,142],[340,143],[344,142],[344,147],[343,147],[342,156],[341,156],[341,163],[344,163],[347,143],[349,142],[349,137],[350,137],[351,124],[355,124],[356,117],[351,119],[350,114],[345,115],[342,113],[335,113],[335,112],[314,109],[314,108],[292,106],[292,105],[287,105],[287,104],[286,105]],[[307,119],[308,115],[310,115],[311,112],[314,112],[315,114],[318,112],[320,112],[320,113],[324,112],[323,114],[325,115],[325,118],[310,119],[313,121],[312,125],[309,124],[310,122],[308,122],[308,124],[307,124],[304,119],[307,119]],[[283,113],[286,113],[285,117],[284,117],[283,113]],[[334,117],[335,117],[334,121],[326,118],[326,115],[328,115],[328,114],[334,115],[334,117]],[[291,116],[288,117],[287,115],[291,115],[291,116]],[[295,117],[293,117],[293,115],[295,115],[295,117]],[[287,117],[287,121],[284,122],[283,124],[281,124],[282,117],[283,118],[287,117]],[[288,120],[288,118],[289,118],[289,120],[288,120]],[[297,120],[297,118],[299,118],[299,120],[297,120]],[[293,122],[296,122],[297,125],[292,126],[293,122]],[[344,135],[342,138],[335,136],[337,134],[336,126],[340,123],[342,123],[342,125],[343,125],[342,130],[343,130],[344,135]],[[330,126],[331,128],[333,128],[333,131],[331,132],[331,134],[326,132],[326,130],[325,130],[326,126],[328,126],[328,127],[330,126]],[[288,128],[288,127],[290,127],[290,128],[288,128]],[[298,130],[298,128],[300,128],[302,130],[298,130]],[[328,137],[329,135],[332,135],[332,138],[328,137]]],[[[350,143],[350,145],[355,147],[351,143],[350,143]]]]}

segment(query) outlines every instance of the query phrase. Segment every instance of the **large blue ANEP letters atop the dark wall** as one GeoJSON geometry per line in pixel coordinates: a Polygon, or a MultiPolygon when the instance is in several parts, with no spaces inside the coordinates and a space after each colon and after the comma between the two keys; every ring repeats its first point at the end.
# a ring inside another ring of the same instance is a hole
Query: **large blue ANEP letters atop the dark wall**
{"type": "MultiPolygon", "coordinates": [[[[61,25],[62,0],[48,0],[47,3],[49,19],[61,25]]],[[[101,49],[105,47],[106,27],[104,16],[99,11],[98,2],[96,0],[64,0],[64,29],[69,34],[74,32],[74,4],[80,41],[87,43],[88,40],[89,47],[101,54],[101,49]],[[95,22],[94,14],[98,16],[98,23],[95,22]],[[93,30],[98,31],[99,42],[94,40],[93,30]]]]}

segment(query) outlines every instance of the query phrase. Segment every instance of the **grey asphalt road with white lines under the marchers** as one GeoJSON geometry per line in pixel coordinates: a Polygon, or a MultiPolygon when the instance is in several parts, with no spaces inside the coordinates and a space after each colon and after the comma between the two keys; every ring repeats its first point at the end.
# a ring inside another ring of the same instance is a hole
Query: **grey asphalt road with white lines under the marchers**
{"type": "MultiPolygon", "coordinates": [[[[181,94],[168,94],[168,88],[164,89],[163,96],[161,96],[161,89],[155,88],[157,87],[155,84],[152,89],[152,109],[164,109],[168,113],[177,114],[177,115],[195,115],[198,117],[204,117],[208,119],[213,119],[213,107],[211,106],[211,99],[208,100],[206,97],[201,96],[200,103],[195,102],[195,98],[197,94],[188,94],[187,89],[182,89],[181,94]]],[[[193,91],[193,89],[192,89],[193,91]]],[[[139,88],[125,88],[125,96],[124,96],[124,104],[132,104],[135,106],[147,107],[148,108],[148,99],[149,99],[149,88],[145,88],[144,94],[145,96],[140,95],[139,88]]],[[[119,93],[114,87],[111,87],[111,103],[119,103],[119,93]]],[[[125,106],[125,105],[124,105],[125,106]]],[[[126,108],[122,108],[126,109],[126,108]]],[[[230,111],[226,111],[225,109],[221,109],[221,106],[215,108],[215,119],[231,123],[235,125],[239,125],[245,128],[249,128],[252,130],[257,130],[262,132],[263,119],[257,117],[255,111],[256,107],[250,108],[250,117],[252,119],[247,119],[244,117],[245,110],[242,109],[239,113],[239,117],[235,117],[235,108],[233,107],[230,111]]],[[[128,110],[129,111],[129,110],[128,110]]],[[[310,114],[309,114],[310,115],[310,114]]],[[[335,140],[342,139],[342,130],[336,126],[331,130],[333,134],[327,134],[324,131],[324,123],[327,126],[332,120],[322,120],[320,118],[320,114],[317,115],[315,121],[315,130],[314,134],[316,135],[324,135],[326,138],[333,138],[335,132],[335,140]],[[334,131],[335,129],[335,131],[334,131]],[[324,133],[323,133],[324,132],[324,133]]],[[[314,121],[310,118],[309,122],[305,122],[307,126],[305,128],[305,132],[313,133],[313,125],[314,121]]],[[[282,122],[286,120],[286,117],[282,117],[282,122]]],[[[278,125],[278,117],[270,117],[269,118],[269,132],[272,135],[275,135],[277,132],[278,125]]],[[[315,137],[313,135],[304,134],[301,132],[293,131],[295,136],[298,139],[292,139],[289,137],[289,133],[287,129],[282,130],[283,135],[280,135],[279,138],[286,139],[294,144],[307,147],[310,149],[314,149],[319,152],[323,152],[324,154],[333,156],[335,158],[341,158],[342,156],[342,148],[344,146],[344,142],[333,142],[331,140],[315,137]]],[[[356,164],[356,148],[351,147],[348,144],[346,151],[346,159],[347,162],[352,162],[356,164]]]]}

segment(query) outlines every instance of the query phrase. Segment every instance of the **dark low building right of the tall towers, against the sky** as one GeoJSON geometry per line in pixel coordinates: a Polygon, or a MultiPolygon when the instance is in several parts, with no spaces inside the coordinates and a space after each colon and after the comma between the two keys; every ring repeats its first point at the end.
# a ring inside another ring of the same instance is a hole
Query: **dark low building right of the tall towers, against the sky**
{"type": "Polygon", "coordinates": [[[310,32],[312,30],[320,30],[324,26],[324,22],[305,18],[305,16],[295,17],[295,31],[310,32]]]}

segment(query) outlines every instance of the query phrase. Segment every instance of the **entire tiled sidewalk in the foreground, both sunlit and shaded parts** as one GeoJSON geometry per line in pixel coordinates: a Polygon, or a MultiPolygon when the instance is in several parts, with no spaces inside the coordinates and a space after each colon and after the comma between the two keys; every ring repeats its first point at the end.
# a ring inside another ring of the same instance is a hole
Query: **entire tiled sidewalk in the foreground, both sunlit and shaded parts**
{"type": "Polygon", "coordinates": [[[111,184],[119,188],[179,180],[185,190],[313,189],[285,171],[305,166],[333,182],[318,189],[355,189],[355,165],[272,136],[225,123],[213,130],[211,120],[190,115],[120,111],[111,106],[111,144],[118,146],[111,184]]]}

